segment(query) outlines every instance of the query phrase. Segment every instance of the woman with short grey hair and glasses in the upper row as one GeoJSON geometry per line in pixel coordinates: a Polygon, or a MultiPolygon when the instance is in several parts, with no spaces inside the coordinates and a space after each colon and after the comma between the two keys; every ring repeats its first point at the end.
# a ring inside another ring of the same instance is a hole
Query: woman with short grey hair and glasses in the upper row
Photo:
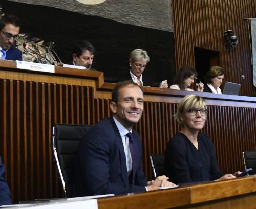
{"type": "MultiPolygon", "coordinates": [[[[147,55],[147,52],[142,49],[135,49],[130,53],[129,64],[130,72],[127,77],[128,80],[132,78],[134,83],[137,83],[139,86],[152,86],[150,79],[145,78],[142,73],[146,69],[147,63],[150,61],[150,57],[147,55]]],[[[126,79],[126,80],[127,80],[126,79]]],[[[168,88],[167,80],[164,80],[159,85],[160,88],[168,88]]]]}

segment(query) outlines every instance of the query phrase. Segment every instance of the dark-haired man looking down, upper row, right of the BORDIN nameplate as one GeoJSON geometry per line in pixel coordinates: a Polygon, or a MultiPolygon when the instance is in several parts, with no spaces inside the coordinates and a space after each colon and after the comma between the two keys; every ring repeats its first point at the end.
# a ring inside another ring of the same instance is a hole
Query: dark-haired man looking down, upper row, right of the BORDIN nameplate
{"type": "Polygon", "coordinates": [[[69,64],[90,69],[93,64],[94,53],[95,48],[91,42],[87,40],[78,41],[72,51],[72,63],[69,64]]]}

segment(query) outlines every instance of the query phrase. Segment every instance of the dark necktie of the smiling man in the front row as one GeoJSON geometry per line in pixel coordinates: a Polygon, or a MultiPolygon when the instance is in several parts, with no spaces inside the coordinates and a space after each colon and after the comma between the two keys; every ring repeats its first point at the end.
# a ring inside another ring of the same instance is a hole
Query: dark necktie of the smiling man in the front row
{"type": "Polygon", "coordinates": [[[134,137],[131,132],[127,133],[126,136],[129,138],[129,148],[131,152],[131,157],[132,157],[132,184],[134,184],[134,176],[135,176],[135,171],[138,166],[138,160],[139,160],[139,155],[138,155],[138,147],[137,144],[134,140],[134,137]]]}

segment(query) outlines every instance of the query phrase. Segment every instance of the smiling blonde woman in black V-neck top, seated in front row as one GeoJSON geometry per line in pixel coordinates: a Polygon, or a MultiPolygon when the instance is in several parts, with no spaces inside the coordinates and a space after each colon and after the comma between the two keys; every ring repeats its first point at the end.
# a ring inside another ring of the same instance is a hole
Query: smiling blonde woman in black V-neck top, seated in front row
{"type": "Polygon", "coordinates": [[[221,173],[212,141],[199,132],[207,111],[204,99],[196,95],[185,96],[178,106],[175,118],[181,131],[169,140],[165,151],[165,171],[176,184],[231,179],[241,173],[221,173]]]}

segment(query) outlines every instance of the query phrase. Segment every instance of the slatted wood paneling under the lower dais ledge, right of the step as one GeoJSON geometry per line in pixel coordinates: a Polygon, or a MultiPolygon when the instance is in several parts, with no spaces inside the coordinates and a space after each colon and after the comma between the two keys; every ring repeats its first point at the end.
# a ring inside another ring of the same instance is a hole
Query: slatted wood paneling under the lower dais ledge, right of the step
{"type": "MultiPolygon", "coordinates": [[[[96,121],[110,115],[109,100],[96,99],[96,121]]],[[[149,161],[151,154],[164,153],[168,140],[180,128],[173,115],[177,103],[145,102],[144,112],[135,129],[143,145],[143,168],[152,179],[149,161]]],[[[216,147],[216,154],[223,173],[243,170],[242,152],[256,150],[256,108],[209,106],[206,125],[202,130],[216,147]]]]}

